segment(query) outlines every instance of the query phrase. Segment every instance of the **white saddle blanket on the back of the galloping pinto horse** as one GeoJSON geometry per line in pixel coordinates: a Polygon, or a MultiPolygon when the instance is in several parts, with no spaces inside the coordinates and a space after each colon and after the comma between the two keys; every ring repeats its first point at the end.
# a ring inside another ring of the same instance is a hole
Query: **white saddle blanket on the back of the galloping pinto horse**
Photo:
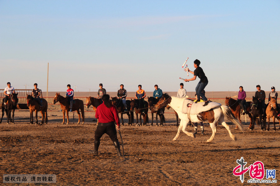
{"type": "Polygon", "coordinates": [[[211,108],[220,107],[222,104],[216,102],[209,102],[205,107],[203,106],[204,102],[194,103],[192,100],[185,99],[183,102],[182,113],[183,114],[194,114],[210,110],[211,108]]]}

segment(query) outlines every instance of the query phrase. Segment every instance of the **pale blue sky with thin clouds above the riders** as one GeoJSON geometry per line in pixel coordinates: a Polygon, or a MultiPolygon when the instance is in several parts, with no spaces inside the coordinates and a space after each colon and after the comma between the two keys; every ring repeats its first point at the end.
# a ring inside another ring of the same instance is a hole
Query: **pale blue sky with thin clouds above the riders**
{"type": "Polygon", "coordinates": [[[189,57],[205,91],[279,91],[279,33],[280,1],[0,0],[0,89],[46,91],[49,63],[49,91],[178,91],[189,57]]]}

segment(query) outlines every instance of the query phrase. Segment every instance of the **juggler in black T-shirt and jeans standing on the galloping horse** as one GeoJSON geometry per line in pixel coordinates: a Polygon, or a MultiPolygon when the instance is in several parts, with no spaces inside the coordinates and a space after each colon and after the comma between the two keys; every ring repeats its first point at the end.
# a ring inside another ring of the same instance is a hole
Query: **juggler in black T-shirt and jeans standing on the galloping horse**
{"type": "Polygon", "coordinates": [[[194,60],[194,71],[189,70],[189,68],[187,67],[186,69],[184,69],[184,71],[189,71],[190,73],[194,74],[193,78],[190,79],[185,79],[185,82],[189,82],[189,81],[194,81],[196,79],[196,77],[198,77],[200,79],[200,81],[198,82],[195,91],[197,94],[197,102],[200,101],[200,97],[203,99],[203,101],[205,102],[205,104],[203,106],[206,106],[208,104],[208,100],[205,97],[205,95],[202,94],[202,91],[204,90],[204,88],[207,86],[208,84],[208,79],[205,76],[205,73],[203,72],[203,69],[199,66],[200,65],[200,61],[198,59],[194,60]]]}

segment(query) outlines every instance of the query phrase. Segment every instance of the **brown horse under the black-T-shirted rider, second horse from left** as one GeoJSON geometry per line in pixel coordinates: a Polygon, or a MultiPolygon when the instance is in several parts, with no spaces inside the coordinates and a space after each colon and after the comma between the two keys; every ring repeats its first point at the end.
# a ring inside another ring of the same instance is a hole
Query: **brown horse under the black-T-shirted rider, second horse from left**
{"type": "Polygon", "coordinates": [[[41,98],[41,100],[43,107],[40,107],[40,104],[31,95],[27,95],[26,101],[31,116],[30,124],[33,124],[33,112],[35,112],[36,124],[38,124],[38,111],[42,114],[42,121],[40,124],[44,124],[44,120],[46,123],[48,122],[48,102],[43,98],[41,98]]]}

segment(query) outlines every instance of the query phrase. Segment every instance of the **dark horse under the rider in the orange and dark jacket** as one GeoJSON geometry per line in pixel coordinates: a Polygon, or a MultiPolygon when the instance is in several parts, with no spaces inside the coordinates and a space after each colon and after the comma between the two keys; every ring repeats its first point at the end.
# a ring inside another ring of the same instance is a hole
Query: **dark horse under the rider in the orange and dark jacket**
{"type": "Polygon", "coordinates": [[[143,126],[147,126],[147,123],[149,123],[149,118],[148,118],[148,102],[144,100],[130,100],[130,110],[135,112],[136,114],[136,126],[142,126],[142,116],[143,116],[143,126]],[[138,124],[138,114],[140,114],[139,119],[140,119],[140,124],[138,124]]]}

